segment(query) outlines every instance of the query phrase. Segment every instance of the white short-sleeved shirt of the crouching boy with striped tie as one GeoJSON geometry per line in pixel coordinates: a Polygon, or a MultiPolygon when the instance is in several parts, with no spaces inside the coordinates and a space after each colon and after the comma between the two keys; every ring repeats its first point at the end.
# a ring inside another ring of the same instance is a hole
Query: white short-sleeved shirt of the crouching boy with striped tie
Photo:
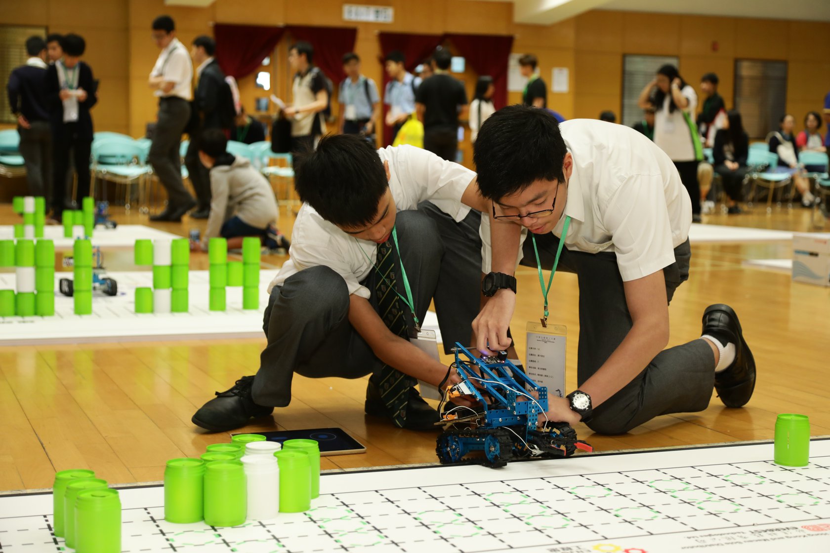
{"type": "MultiPolygon", "coordinates": [[[[421,201],[430,200],[457,222],[470,212],[470,207],[461,203],[461,195],[476,177],[475,172],[408,145],[381,148],[378,156],[381,162],[389,163],[389,190],[395,200],[396,211],[414,210],[421,201]]],[[[377,253],[377,244],[369,240],[356,240],[325,221],[305,203],[297,213],[291,232],[291,259],[282,265],[276,278],[268,285],[268,293],[274,286],[281,286],[292,274],[323,265],[343,277],[349,294],[369,299],[371,292],[360,282],[373,270],[377,253]],[[367,256],[371,262],[366,259],[367,256]]]]}

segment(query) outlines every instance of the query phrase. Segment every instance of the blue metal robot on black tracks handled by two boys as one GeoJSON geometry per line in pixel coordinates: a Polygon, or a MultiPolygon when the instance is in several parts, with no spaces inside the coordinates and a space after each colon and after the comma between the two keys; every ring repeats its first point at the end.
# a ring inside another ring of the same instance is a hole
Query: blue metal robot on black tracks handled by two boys
{"type": "Polygon", "coordinates": [[[545,421],[537,428],[548,410],[548,389],[508,361],[505,352],[478,358],[460,343],[454,351],[453,366],[461,382],[447,390],[447,398],[472,395],[481,407],[456,406],[442,413],[436,424],[444,432],[435,449],[442,463],[460,463],[467,454],[481,451],[483,464],[499,468],[517,458],[561,458],[576,449],[593,450],[577,439],[569,424],[545,421]]]}

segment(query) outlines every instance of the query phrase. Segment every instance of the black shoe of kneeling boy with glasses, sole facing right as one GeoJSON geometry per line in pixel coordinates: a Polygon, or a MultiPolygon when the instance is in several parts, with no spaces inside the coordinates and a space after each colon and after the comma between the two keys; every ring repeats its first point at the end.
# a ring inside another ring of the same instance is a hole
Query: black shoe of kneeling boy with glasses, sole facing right
{"type": "Polygon", "coordinates": [[[724,344],[735,344],[735,361],[715,373],[715,390],[727,407],[743,407],[755,389],[755,358],[746,345],[738,316],[724,303],[710,305],[703,312],[703,333],[724,344]]]}

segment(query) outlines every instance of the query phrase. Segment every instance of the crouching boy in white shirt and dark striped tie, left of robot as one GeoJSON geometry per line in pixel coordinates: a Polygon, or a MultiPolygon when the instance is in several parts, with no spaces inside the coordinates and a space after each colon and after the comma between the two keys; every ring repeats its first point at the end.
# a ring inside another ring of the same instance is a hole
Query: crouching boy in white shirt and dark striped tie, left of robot
{"type": "Polygon", "coordinates": [[[420,148],[376,151],[350,134],[320,140],[297,158],[295,173],[305,203],[291,260],[269,289],[259,371],[208,401],[193,423],[224,431],[268,415],[289,404],[297,372],[372,374],[367,414],[432,429],[438,414],[416,379],[436,386],[460,379],[409,337],[433,298],[445,344],[470,337],[486,207],[475,173],[420,148]]]}

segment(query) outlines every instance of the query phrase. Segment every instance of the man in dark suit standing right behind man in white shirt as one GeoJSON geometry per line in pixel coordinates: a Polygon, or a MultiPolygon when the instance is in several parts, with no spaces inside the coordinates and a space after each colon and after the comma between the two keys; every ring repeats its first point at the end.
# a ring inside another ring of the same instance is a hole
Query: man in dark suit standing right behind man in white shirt
{"type": "Polygon", "coordinates": [[[230,88],[225,82],[225,74],[213,57],[216,51],[216,41],[210,36],[197,36],[190,49],[193,65],[197,66],[198,85],[193,94],[193,109],[191,122],[188,126],[190,144],[188,153],[184,156],[184,164],[188,167],[190,182],[196,192],[198,205],[190,213],[194,219],[207,219],[210,214],[210,177],[207,169],[199,162],[199,137],[205,129],[229,130],[234,124],[232,109],[233,100],[230,88]]]}

